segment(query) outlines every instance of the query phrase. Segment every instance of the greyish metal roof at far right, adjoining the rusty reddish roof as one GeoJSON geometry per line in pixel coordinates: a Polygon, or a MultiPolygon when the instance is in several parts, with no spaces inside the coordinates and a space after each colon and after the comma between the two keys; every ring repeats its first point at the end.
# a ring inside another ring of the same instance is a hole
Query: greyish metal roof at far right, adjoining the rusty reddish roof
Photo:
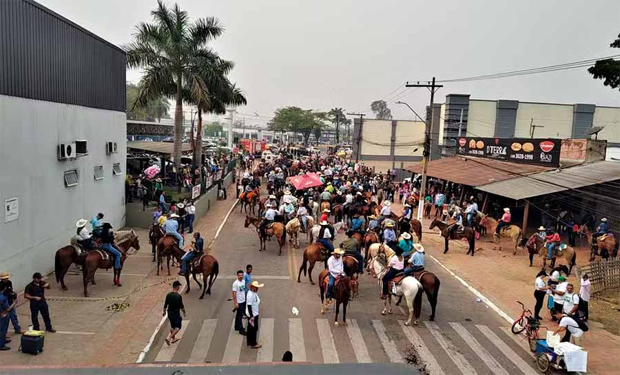
{"type": "MultiPolygon", "coordinates": [[[[620,162],[594,162],[476,186],[480,191],[521,200],[620,180],[620,162]]],[[[618,191],[620,195],[620,189],[618,191]]]]}

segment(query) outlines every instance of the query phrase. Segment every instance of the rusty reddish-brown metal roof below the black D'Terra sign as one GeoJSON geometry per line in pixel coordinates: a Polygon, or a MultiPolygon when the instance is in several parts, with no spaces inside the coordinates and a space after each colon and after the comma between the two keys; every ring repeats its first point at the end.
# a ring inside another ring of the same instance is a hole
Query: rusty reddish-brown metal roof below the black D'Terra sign
{"type": "MultiPolygon", "coordinates": [[[[422,173],[422,163],[406,167],[410,172],[422,173]]],[[[529,175],[541,171],[549,171],[552,168],[541,167],[539,165],[516,164],[500,160],[468,158],[465,156],[455,156],[451,158],[441,158],[428,163],[426,174],[452,181],[457,184],[468,186],[478,186],[509,180],[520,175],[529,175]]],[[[511,189],[513,189],[511,187],[511,189]]]]}

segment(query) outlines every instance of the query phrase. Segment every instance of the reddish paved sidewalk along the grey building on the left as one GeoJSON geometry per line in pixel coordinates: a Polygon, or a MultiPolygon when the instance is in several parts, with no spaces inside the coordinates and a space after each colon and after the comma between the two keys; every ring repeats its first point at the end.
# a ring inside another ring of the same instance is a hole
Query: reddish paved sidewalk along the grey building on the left
{"type": "MultiPolygon", "coordinates": [[[[227,188],[227,200],[218,200],[209,212],[196,220],[194,231],[200,231],[205,246],[211,242],[218,224],[236,200],[235,184],[227,188]],[[216,224],[217,223],[217,224],[216,224]]],[[[97,270],[96,285],[90,285],[89,298],[83,298],[81,272],[72,266],[65,276],[68,291],[63,292],[56,284],[54,274],[48,275],[50,290],[45,292],[50,306],[55,334],[45,334],[45,350],[34,357],[22,354],[19,348],[20,336],[9,334],[11,350],[1,352],[3,365],[107,365],[113,363],[134,363],[138,354],[161,321],[163,299],[170,291],[170,284],[176,279],[178,268],[171,267],[171,277],[163,272],[156,276],[152,263],[148,232],[136,229],[140,240],[140,251],[125,261],[121,274],[123,286],[112,285],[112,270],[97,270]],[[112,303],[129,303],[123,311],[106,310],[112,303]]],[[[187,234],[186,234],[186,238],[187,234]]],[[[208,249],[205,249],[208,251],[208,249]]],[[[184,281],[184,280],[183,280],[184,281]]],[[[23,298],[20,295],[21,301],[23,298]]],[[[17,309],[19,323],[25,330],[30,322],[28,303],[17,309]]],[[[43,321],[39,317],[41,327],[43,321]]]]}

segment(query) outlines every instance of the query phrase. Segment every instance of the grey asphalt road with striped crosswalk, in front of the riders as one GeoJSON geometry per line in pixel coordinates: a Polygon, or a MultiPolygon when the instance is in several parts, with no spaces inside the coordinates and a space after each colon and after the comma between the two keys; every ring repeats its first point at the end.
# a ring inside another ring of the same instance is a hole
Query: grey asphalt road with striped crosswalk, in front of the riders
{"type": "MultiPolygon", "coordinates": [[[[333,325],[333,311],[320,314],[318,286],[307,277],[297,283],[302,249],[288,247],[278,256],[277,242],[258,251],[258,238],[243,227],[244,215],[236,208],[214,243],[220,263],[213,294],[198,300],[198,289],[185,295],[187,320],[180,341],[168,347],[163,342],[164,325],[145,363],[252,363],[279,361],[291,350],[295,361],[311,363],[406,363],[418,361],[429,374],[536,374],[533,356],[506,330],[506,322],[477,303],[475,296],[433,261],[428,270],[442,281],[437,319],[428,321],[430,307],[424,299],[422,323],[416,328],[403,325],[406,316],[395,308],[382,316],[376,279],[363,275],[360,298],[349,304],[349,325],[333,325]],[[233,330],[231,284],[236,270],[254,266],[254,279],[265,283],[260,290],[260,350],[245,345],[245,338],[233,330]],[[300,311],[298,316],[291,308],[300,311]]],[[[340,243],[340,234],[336,243],[340,243]]],[[[305,239],[300,239],[303,248],[305,239]]],[[[322,266],[314,270],[315,280],[322,266]]],[[[509,292],[509,291],[506,291],[509,292]]],[[[426,297],[424,297],[426,298],[426,297]]]]}

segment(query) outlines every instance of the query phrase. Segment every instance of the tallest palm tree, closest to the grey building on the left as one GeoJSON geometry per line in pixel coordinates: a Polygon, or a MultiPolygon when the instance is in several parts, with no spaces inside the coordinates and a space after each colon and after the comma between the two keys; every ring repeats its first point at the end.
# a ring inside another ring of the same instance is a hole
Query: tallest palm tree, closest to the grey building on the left
{"type": "Polygon", "coordinates": [[[151,16],[153,23],[136,25],[134,41],[124,46],[127,67],[145,72],[134,107],[146,106],[161,95],[175,98],[173,158],[178,170],[183,141],[183,87],[189,88],[192,98],[208,101],[207,83],[198,67],[213,58],[207,43],[220,36],[224,28],[214,17],[191,23],[178,4],[168,8],[161,0],[151,16]]]}

